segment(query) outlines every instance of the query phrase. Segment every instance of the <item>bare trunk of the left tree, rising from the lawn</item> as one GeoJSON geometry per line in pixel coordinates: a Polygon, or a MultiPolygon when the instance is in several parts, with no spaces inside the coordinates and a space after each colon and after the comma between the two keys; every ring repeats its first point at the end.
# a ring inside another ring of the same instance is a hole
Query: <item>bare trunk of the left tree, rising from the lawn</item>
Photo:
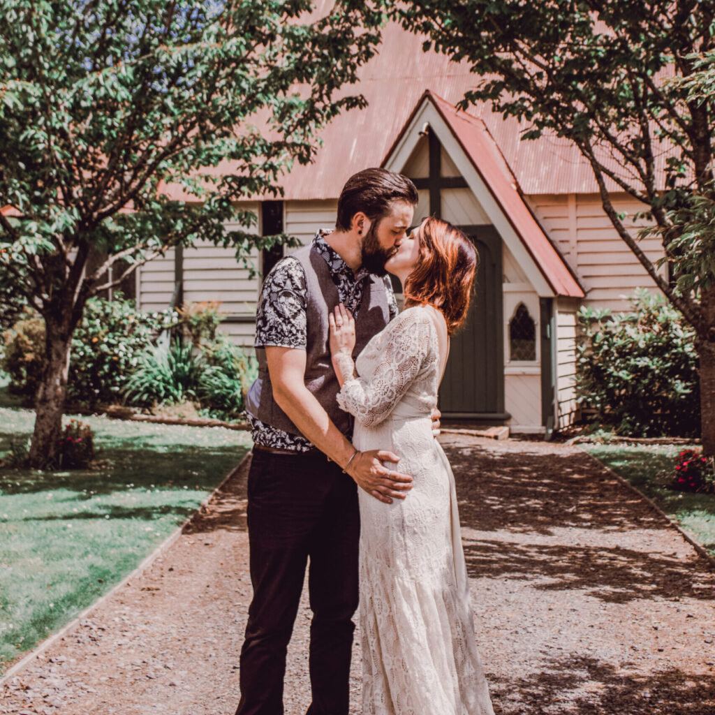
{"type": "Polygon", "coordinates": [[[67,322],[45,317],[45,364],[37,391],[35,428],[29,455],[30,465],[35,469],[52,468],[59,461],[72,339],[67,322]]]}

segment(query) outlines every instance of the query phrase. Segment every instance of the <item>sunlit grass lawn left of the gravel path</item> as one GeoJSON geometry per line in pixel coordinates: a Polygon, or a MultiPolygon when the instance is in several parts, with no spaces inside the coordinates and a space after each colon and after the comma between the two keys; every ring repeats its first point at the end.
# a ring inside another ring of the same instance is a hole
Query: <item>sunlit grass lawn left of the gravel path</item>
{"type": "MultiPolygon", "coordinates": [[[[251,444],[236,430],[79,419],[100,468],[0,471],[0,674],[131,572],[251,444]]],[[[0,456],[33,424],[0,408],[0,456]]]]}

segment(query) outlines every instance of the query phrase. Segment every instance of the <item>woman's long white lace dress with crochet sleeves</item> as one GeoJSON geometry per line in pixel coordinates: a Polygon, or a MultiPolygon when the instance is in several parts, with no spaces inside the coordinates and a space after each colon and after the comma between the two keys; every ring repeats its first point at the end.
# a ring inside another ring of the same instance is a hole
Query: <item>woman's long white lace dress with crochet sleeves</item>
{"type": "Polygon", "coordinates": [[[454,476],[432,434],[444,363],[438,330],[446,336],[433,308],[404,310],[365,346],[360,377],[337,396],[355,415],[355,447],[395,452],[398,470],[414,478],[407,498],[390,505],[359,490],[365,715],[493,715],[454,476]]]}

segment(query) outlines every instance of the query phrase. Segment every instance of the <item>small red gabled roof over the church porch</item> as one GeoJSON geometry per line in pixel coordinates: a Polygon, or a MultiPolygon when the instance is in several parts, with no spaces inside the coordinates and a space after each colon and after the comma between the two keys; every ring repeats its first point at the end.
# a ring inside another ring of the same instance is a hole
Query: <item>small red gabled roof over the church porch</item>
{"type": "MultiPolygon", "coordinates": [[[[445,120],[556,295],[582,298],[584,294],[581,286],[528,208],[518,180],[485,123],[467,112],[460,112],[433,92],[425,92],[423,99],[418,102],[418,107],[423,102],[432,102],[445,120]]],[[[418,107],[415,107],[415,112],[418,107]]],[[[409,120],[405,123],[400,135],[405,132],[409,123],[409,120]]],[[[400,136],[395,144],[399,139],[400,136]]],[[[387,158],[385,157],[385,160],[387,158]]]]}

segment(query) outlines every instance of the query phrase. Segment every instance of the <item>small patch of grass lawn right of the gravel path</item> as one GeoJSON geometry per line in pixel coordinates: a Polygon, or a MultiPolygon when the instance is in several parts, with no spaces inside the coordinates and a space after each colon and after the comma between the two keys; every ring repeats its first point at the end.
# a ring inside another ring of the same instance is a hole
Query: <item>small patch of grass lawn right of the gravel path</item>
{"type": "Polygon", "coordinates": [[[666,488],[682,445],[581,445],[649,496],[669,517],[715,556],[715,494],[666,488]]]}

